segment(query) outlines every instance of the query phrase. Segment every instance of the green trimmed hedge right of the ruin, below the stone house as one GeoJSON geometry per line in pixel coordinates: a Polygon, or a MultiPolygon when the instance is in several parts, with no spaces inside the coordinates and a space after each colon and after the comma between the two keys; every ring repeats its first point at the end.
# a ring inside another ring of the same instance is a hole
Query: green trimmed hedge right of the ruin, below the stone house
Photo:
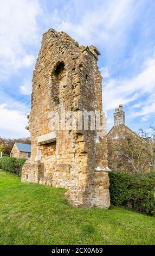
{"type": "Polygon", "coordinates": [[[155,215],[155,173],[109,173],[111,202],[147,215],[155,215]]]}

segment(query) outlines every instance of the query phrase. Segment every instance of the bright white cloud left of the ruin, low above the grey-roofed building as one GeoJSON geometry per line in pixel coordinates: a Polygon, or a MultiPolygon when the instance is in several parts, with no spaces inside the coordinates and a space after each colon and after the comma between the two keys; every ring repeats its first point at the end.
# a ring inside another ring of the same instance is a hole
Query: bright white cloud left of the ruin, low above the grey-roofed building
{"type": "Polygon", "coordinates": [[[25,130],[27,118],[22,111],[10,108],[7,104],[0,105],[0,136],[6,138],[30,137],[30,133],[25,130]]]}

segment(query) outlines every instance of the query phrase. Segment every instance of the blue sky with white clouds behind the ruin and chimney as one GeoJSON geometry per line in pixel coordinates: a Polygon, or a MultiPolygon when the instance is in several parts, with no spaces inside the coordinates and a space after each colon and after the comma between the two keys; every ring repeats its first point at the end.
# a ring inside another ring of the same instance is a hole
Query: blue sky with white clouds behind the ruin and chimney
{"type": "Polygon", "coordinates": [[[31,78],[49,28],[101,52],[107,130],[124,105],[132,130],[155,126],[154,0],[0,0],[0,136],[30,136],[31,78]]]}

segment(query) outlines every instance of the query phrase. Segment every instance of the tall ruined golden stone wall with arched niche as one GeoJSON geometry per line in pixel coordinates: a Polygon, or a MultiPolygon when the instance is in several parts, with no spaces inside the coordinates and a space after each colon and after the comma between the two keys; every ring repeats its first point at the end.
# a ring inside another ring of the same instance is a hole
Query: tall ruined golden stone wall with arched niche
{"type": "Polygon", "coordinates": [[[28,116],[31,159],[23,166],[22,181],[67,188],[75,206],[108,208],[106,118],[100,136],[97,130],[51,130],[49,125],[51,111],[60,113],[62,104],[76,115],[81,110],[102,112],[99,54],[64,32],[43,34],[28,116]]]}

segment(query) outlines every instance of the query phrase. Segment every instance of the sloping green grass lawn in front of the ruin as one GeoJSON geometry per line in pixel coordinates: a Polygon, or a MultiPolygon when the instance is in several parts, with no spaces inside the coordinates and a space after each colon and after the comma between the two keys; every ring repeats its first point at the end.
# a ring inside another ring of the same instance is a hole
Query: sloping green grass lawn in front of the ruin
{"type": "Polygon", "coordinates": [[[73,208],[64,192],[0,170],[0,245],[155,245],[154,217],[73,208]]]}

